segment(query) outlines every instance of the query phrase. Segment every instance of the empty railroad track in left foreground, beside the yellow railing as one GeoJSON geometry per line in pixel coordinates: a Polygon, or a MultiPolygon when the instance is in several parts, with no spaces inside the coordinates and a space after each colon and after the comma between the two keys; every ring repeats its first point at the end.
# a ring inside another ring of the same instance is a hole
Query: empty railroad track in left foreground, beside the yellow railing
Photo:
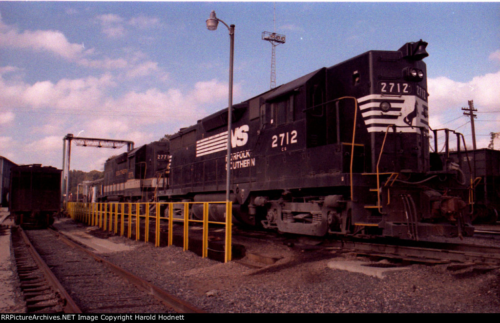
{"type": "MultiPolygon", "coordinates": [[[[203,312],[152,283],[109,263],[61,233],[50,229],[32,230],[28,231],[27,236],[47,266],[61,281],[60,284],[68,290],[74,303],[80,308],[79,312],[203,312]]],[[[60,312],[60,307],[47,307],[45,311],[60,312]]]]}

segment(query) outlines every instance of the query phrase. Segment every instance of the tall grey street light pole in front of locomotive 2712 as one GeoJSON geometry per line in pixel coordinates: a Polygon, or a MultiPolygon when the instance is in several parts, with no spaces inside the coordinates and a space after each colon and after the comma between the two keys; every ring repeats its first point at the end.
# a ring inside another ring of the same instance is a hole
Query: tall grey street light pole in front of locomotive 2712
{"type": "Polygon", "coordinates": [[[218,21],[222,22],[229,30],[230,47],[229,47],[229,102],[227,104],[227,156],[226,156],[226,178],[225,178],[225,200],[229,202],[230,191],[230,170],[231,170],[231,128],[232,128],[232,66],[234,54],[234,25],[227,25],[224,21],[215,16],[215,10],[210,12],[210,16],[206,19],[206,27],[208,30],[217,29],[218,21]]]}

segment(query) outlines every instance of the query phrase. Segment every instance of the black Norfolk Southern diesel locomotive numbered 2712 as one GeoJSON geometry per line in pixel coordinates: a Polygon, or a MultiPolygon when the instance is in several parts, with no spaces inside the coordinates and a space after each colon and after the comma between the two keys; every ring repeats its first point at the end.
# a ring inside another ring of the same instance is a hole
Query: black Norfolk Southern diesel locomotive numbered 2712
{"type": "MultiPolygon", "coordinates": [[[[472,235],[456,171],[430,171],[426,45],[370,50],[234,105],[234,218],[317,236],[472,235]]],[[[225,200],[226,145],[227,109],[172,135],[156,198],[225,200]]]]}

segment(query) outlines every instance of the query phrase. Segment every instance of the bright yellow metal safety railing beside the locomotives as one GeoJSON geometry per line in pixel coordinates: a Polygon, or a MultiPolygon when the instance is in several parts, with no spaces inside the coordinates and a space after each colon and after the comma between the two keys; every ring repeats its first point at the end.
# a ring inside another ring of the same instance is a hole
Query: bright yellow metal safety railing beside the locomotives
{"type": "Polygon", "coordinates": [[[231,218],[232,218],[232,202],[148,202],[148,203],[83,203],[83,202],[67,202],[66,211],[69,216],[76,221],[81,221],[88,225],[98,226],[104,231],[113,231],[120,236],[128,238],[132,235],[132,225],[134,224],[135,239],[140,238],[140,219],[144,219],[144,242],[149,240],[149,224],[150,221],[155,225],[155,246],[159,246],[159,230],[161,221],[168,222],[168,242],[167,245],[172,245],[173,240],[173,222],[183,222],[183,247],[184,251],[188,247],[188,230],[189,223],[197,222],[203,225],[203,243],[202,257],[208,254],[208,224],[225,225],[225,262],[231,260],[231,218]],[[209,221],[208,207],[209,204],[225,203],[225,222],[209,221]],[[192,204],[203,204],[203,219],[190,219],[189,206],[192,204]],[[181,206],[181,207],[179,207],[181,206]],[[174,208],[181,214],[181,218],[177,215],[174,217],[174,208]],[[168,216],[160,214],[160,210],[166,209],[165,213],[168,216]],[[153,213],[153,214],[151,214],[153,213]],[[118,218],[119,228],[118,228],[118,218]],[[126,224],[126,228],[125,228],[126,224]]]}

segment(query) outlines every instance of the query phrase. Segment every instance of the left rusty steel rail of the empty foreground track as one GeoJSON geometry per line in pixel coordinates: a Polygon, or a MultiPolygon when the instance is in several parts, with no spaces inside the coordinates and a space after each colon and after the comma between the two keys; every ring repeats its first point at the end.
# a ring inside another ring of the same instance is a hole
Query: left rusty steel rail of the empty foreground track
{"type": "Polygon", "coordinates": [[[40,255],[36,251],[35,247],[31,244],[31,241],[29,241],[29,238],[27,237],[26,233],[24,233],[24,230],[22,230],[22,228],[20,226],[18,226],[16,229],[20,233],[22,240],[26,244],[26,247],[27,247],[29,253],[33,257],[36,264],[38,265],[38,268],[43,272],[43,275],[45,276],[45,280],[52,287],[54,292],[58,293],[59,296],[61,297],[62,310],[65,313],[81,313],[80,308],[76,305],[74,300],[67,293],[66,289],[64,289],[62,284],[55,277],[52,270],[50,270],[50,268],[47,266],[45,261],[43,261],[43,259],[40,257],[40,255]]]}

